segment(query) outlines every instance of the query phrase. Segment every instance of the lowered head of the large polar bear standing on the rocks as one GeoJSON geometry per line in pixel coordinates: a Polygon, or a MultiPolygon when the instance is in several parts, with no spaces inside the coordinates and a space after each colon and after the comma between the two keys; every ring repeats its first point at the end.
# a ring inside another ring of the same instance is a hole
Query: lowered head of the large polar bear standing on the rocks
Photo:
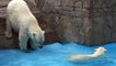
{"type": "Polygon", "coordinates": [[[43,47],[43,43],[45,41],[45,31],[42,32],[31,32],[30,37],[37,47],[43,47]]]}

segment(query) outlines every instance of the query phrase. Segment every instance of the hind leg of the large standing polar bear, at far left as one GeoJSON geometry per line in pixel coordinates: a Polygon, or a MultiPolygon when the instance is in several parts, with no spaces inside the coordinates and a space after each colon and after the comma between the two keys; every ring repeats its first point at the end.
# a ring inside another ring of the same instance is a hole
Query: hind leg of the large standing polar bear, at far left
{"type": "Polygon", "coordinates": [[[8,38],[12,37],[12,26],[11,26],[10,20],[8,18],[7,18],[7,24],[5,24],[5,36],[8,38]]]}

